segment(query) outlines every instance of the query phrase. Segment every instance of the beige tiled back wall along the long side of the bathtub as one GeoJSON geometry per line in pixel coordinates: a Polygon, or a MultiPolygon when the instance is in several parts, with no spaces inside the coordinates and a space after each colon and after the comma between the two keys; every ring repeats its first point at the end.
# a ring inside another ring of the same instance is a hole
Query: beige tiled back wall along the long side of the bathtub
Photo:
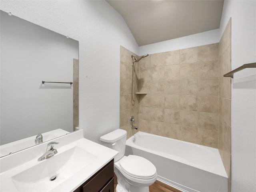
{"type": "Polygon", "coordinates": [[[218,148],[219,44],[140,60],[139,130],[218,148]]]}

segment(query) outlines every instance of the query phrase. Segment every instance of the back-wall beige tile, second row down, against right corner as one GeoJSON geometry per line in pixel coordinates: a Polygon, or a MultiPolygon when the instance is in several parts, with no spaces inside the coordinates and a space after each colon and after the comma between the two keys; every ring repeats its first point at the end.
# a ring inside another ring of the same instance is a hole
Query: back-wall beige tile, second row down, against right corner
{"type": "Polygon", "coordinates": [[[218,60],[198,63],[198,78],[218,78],[218,77],[219,77],[218,60]]]}

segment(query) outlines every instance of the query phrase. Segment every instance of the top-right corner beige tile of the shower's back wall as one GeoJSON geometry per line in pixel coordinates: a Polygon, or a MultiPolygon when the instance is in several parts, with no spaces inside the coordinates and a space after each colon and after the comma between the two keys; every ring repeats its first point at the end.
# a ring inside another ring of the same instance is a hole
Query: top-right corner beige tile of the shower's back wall
{"type": "Polygon", "coordinates": [[[213,61],[219,58],[219,44],[209,44],[198,47],[198,62],[213,61]]]}

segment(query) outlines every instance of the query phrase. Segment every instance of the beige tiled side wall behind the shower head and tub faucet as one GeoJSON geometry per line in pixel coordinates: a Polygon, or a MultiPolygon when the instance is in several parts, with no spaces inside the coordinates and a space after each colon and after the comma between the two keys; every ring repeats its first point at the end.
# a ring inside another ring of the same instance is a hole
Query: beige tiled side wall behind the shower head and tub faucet
{"type": "MultiPolygon", "coordinates": [[[[139,103],[138,100],[132,101],[132,58],[137,56],[126,48],[120,46],[120,128],[127,131],[127,138],[134,135],[138,130],[132,129],[130,125],[130,116],[134,116],[135,126],[139,124],[139,103]]],[[[138,57],[138,56],[137,56],[138,57]]],[[[135,64],[137,91],[139,88],[138,63],[135,64]]]]}

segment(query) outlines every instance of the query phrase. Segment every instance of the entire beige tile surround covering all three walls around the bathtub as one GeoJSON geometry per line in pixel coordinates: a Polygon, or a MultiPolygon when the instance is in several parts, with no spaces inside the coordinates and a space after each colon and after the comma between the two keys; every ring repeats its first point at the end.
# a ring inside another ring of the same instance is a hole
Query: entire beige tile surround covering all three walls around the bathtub
{"type": "Polygon", "coordinates": [[[223,74],[231,70],[231,19],[220,43],[136,63],[138,92],[147,94],[133,104],[132,54],[120,46],[120,128],[127,138],[137,132],[128,122],[133,115],[140,131],[218,148],[230,181],[231,79],[223,74]]]}

